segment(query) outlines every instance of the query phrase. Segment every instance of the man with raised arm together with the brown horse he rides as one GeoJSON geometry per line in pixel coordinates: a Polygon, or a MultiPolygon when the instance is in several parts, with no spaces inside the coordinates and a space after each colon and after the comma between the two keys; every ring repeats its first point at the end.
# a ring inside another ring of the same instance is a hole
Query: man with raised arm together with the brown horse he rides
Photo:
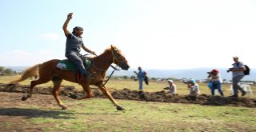
{"type": "MultiPolygon", "coordinates": [[[[110,48],[106,49],[102,54],[94,58],[90,58],[90,65],[87,66],[87,71],[82,62],[82,55],[79,53],[80,48],[86,50],[94,54],[93,51],[88,50],[82,42],[81,34],[82,28],[75,27],[72,34],[68,30],[66,30],[68,22],[72,18],[72,13],[68,14],[68,18],[63,25],[64,33],[66,34],[66,58],[69,58],[71,62],[74,62],[78,69],[80,70],[80,74],[84,75],[82,78],[77,78],[77,72],[74,70],[64,70],[58,67],[59,63],[63,60],[52,59],[47,62],[43,62],[41,64],[36,64],[31,66],[27,70],[24,71],[22,76],[13,82],[22,82],[26,78],[30,78],[35,74],[39,73],[38,80],[33,80],[30,82],[30,90],[28,94],[22,97],[22,101],[26,101],[26,99],[31,98],[33,94],[34,86],[38,84],[46,83],[52,81],[54,83],[54,89],[52,94],[58,106],[62,107],[62,109],[67,109],[67,106],[61,101],[59,98],[59,89],[63,80],[78,83],[82,86],[82,89],[85,91],[86,96],[80,97],[79,99],[91,98],[93,96],[92,91],[90,90],[90,85],[98,86],[102,93],[106,95],[107,98],[110,99],[110,102],[116,106],[117,110],[124,110],[124,108],[118,104],[110,94],[109,90],[106,89],[104,80],[106,77],[106,70],[111,66],[112,63],[119,66],[122,70],[128,70],[130,68],[126,58],[122,54],[121,50],[118,50],[117,47],[111,45],[110,48]],[[94,73],[94,78],[90,78],[88,72],[94,73]]],[[[60,65],[62,66],[62,65],[60,65]]]]}

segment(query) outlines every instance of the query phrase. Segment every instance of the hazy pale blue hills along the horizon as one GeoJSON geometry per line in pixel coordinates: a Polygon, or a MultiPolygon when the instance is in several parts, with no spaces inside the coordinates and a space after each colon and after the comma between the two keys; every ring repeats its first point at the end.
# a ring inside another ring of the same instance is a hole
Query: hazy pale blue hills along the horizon
{"type": "MultiPolygon", "coordinates": [[[[10,68],[15,71],[22,71],[28,68],[28,66],[6,66],[5,68],[10,68]]],[[[195,69],[182,69],[182,70],[145,70],[150,78],[195,78],[195,79],[206,79],[207,72],[214,68],[195,68],[195,69]]],[[[112,72],[112,68],[110,67],[107,70],[107,75],[110,75],[112,72]]],[[[227,73],[225,68],[218,68],[220,73],[222,74],[223,79],[230,80],[232,77],[231,73],[227,73]]],[[[138,71],[137,69],[130,70],[120,70],[115,71],[114,76],[132,76],[135,75],[134,71],[138,71]]],[[[250,70],[250,75],[245,76],[243,80],[255,81],[256,80],[256,69],[250,70]]]]}

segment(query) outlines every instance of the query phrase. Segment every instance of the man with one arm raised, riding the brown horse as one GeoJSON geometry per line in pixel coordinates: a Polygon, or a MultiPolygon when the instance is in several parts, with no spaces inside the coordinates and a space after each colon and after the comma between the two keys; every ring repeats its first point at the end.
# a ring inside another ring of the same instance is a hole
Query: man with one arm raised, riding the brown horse
{"type": "Polygon", "coordinates": [[[70,60],[70,62],[73,62],[79,69],[80,73],[88,77],[89,73],[86,71],[85,66],[82,62],[82,54],[80,54],[81,47],[86,52],[89,52],[91,54],[95,54],[94,51],[89,50],[84,46],[84,43],[82,42],[82,33],[83,29],[80,26],[75,26],[72,33],[70,33],[69,30],[67,30],[67,25],[70,22],[70,19],[72,18],[72,14],[70,13],[67,15],[66,22],[62,26],[62,29],[64,30],[64,34],[66,35],[66,58],[70,60]]]}

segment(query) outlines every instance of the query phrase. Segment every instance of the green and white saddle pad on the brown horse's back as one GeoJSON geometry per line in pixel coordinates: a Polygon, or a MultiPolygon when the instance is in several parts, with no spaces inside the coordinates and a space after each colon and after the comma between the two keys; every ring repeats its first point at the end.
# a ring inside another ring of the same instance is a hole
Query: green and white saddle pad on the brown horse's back
{"type": "MultiPolygon", "coordinates": [[[[90,58],[83,58],[82,62],[83,62],[83,65],[85,66],[86,70],[88,70],[92,63],[92,60],[90,58]]],[[[58,64],[56,65],[56,67],[61,70],[70,70],[70,71],[79,73],[78,67],[75,66],[74,63],[70,62],[70,60],[68,60],[68,59],[63,59],[63,60],[59,61],[58,64]]]]}

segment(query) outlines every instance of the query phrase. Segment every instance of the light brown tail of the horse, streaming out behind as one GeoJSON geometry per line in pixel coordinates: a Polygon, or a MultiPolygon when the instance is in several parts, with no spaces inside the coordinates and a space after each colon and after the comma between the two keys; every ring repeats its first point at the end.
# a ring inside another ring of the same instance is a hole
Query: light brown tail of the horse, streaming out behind
{"type": "Polygon", "coordinates": [[[27,78],[38,75],[38,70],[39,70],[40,66],[41,66],[41,64],[37,64],[37,65],[29,67],[28,69],[26,69],[24,71],[24,73],[22,74],[22,76],[20,78],[18,78],[17,80],[11,81],[10,83],[22,82],[22,81],[26,80],[27,78]]]}

